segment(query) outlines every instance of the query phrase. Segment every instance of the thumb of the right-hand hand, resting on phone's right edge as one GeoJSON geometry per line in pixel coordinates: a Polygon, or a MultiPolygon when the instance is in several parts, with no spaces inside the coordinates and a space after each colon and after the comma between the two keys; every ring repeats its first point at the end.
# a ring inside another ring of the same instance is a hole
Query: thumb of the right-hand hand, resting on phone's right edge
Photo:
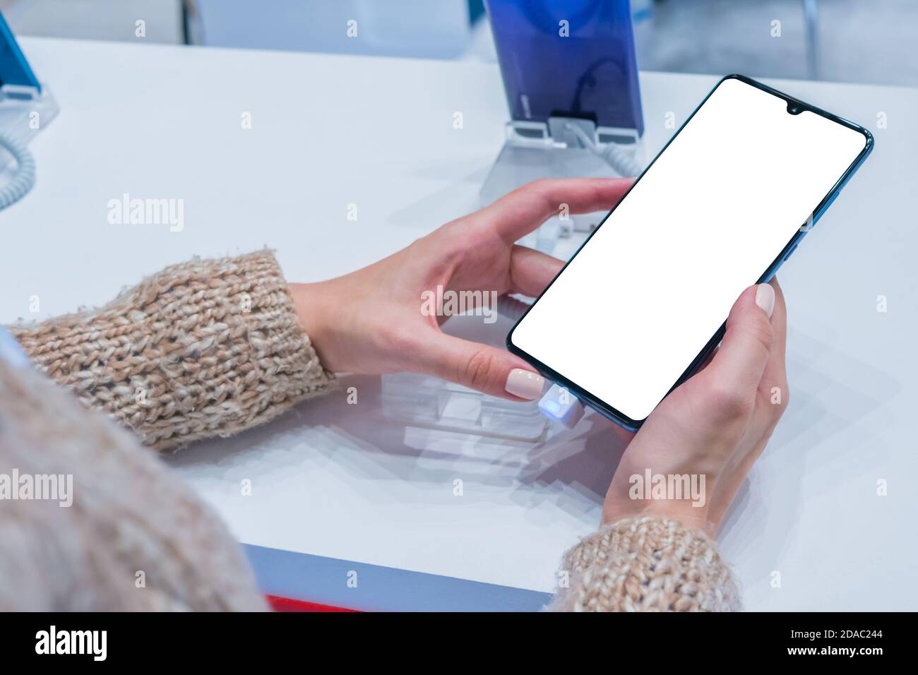
{"type": "Polygon", "coordinates": [[[735,388],[738,395],[756,391],[775,340],[770,321],[774,309],[775,289],[770,284],[743,291],[730,310],[721,348],[705,368],[707,377],[735,388]]]}

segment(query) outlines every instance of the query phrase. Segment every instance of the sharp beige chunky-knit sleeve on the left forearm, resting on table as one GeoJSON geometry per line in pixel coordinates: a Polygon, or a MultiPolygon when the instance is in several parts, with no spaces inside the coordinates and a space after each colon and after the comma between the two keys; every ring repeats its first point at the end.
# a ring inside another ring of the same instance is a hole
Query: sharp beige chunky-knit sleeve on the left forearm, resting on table
{"type": "Polygon", "coordinates": [[[157,450],[239,433],[334,383],[270,251],[175,264],[105,307],[10,331],[47,375],[157,450]]]}

